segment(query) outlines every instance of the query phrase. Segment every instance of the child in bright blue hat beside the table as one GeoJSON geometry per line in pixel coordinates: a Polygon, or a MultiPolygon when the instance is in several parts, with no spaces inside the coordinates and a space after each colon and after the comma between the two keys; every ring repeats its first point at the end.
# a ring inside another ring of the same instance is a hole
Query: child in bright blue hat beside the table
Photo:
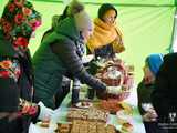
{"type": "Polygon", "coordinates": [[[143,117],[146,133],[165,133],[158,127],[157,114],[152,105],[152,92],[159,66],[163,63],[163,54],[150,54],[146,58],[143,68],[144,78],[137,88],[138,109],[143,117]]]}

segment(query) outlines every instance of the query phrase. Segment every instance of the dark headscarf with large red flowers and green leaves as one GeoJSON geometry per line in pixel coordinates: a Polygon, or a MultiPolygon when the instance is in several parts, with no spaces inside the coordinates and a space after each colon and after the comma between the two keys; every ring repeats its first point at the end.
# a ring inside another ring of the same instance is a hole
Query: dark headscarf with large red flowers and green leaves
{"type": "Polygon", "coordinates": [[[0,28],[17,51],[27,49],[32,32],[40,24],[40,13],[27,0],[9,0],[0,18],[0,28]]]}

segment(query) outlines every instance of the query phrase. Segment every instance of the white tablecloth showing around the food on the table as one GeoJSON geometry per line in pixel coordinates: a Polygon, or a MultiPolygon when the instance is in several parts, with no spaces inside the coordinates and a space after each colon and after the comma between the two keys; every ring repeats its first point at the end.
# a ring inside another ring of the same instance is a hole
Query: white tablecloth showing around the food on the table
{"type": "MultiPolygon", "coordinates": [[[[61,109],[60,109],[60,114],[56,114],[55,116],[53,116],[53,121],[58,121],[58,122],[66,122],[66,114],[67,114],[67,105],[70,103],[71,100],[71,94],[69,94],[63,103],[61,104],[61,109]]],[[[134,126],[134,132],[133,133],[146,133],[145,132],[145,127],[142,121],[142,116],[138,112],[137,109],[137,92],[136,92],[136,86],[133,88],[132,93],[129,95],[129,98],[127,100],[125,100],[126,103],[131,104],[133,106],[133,126],[134,126]]],[[[53,123],[53,122],[52,122],[53,123]]],[[[115,125],[116,129],[121,129],[121,125],[117,124],[117,119],[115,115],[110,115],[110,122],[111,124],[115,125]]],[[[54,133],[53,131],[53,124],[51,125],[50,129],[43,129],[40,127],[38,125],[31,124],[30,125],[30,130],[29,133],[54,133]]]]}

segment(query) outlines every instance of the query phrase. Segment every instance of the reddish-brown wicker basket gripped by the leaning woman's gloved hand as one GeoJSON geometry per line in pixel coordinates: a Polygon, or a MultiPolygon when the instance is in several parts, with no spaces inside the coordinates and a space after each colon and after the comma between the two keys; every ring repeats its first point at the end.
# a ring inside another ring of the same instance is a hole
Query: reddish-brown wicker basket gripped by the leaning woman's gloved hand
{"type": "Polygon", "coordinates": [[[127,99],[131,94],[131,88],[134,83],[134,75],[128,73],[129,71],[126,69],[123,61],[118,60],[114,63],[107,64],[104,69],[100,71],[97,74],[102,82],[104,82],[108,86],[121,86],[121,91],[118,94],[111,94],[106,93],[104,98],[107,99],[116,99],[116,101],[123,101],[127,99]],[[108,76],[105,76],[105,73],[107,73],[110,68],[115,68],[117,71],[121,72],[121,75],[116,79],[111,79],[108,76]]]}

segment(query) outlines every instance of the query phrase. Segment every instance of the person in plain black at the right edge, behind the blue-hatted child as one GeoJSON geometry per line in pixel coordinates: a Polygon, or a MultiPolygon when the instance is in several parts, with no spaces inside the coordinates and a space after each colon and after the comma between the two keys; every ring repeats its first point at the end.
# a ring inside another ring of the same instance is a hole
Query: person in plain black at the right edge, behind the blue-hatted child
{"type": "Polygon", "coordinates": [[[152,93],[152,102],[158,114],[160,127],[168,129],[169,133],[177,131],[177,53],[164,57],[152,93]]]}

